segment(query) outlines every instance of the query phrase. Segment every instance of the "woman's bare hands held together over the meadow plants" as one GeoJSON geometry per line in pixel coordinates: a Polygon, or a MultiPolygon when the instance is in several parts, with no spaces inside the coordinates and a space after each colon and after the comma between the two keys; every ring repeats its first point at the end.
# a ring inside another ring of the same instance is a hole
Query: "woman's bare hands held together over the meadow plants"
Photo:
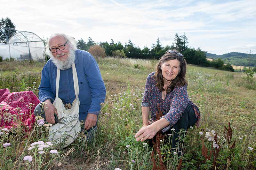
{"type": "Polygon", "coordinates": [[[138,142],[139,140],[141,142],[147,140],[147,139],[152,139],[156,133],[158,132],[156,126],[154,124],[145,126],[140,128],[140,130],[135,134],[136,141],[138,142]]]}

